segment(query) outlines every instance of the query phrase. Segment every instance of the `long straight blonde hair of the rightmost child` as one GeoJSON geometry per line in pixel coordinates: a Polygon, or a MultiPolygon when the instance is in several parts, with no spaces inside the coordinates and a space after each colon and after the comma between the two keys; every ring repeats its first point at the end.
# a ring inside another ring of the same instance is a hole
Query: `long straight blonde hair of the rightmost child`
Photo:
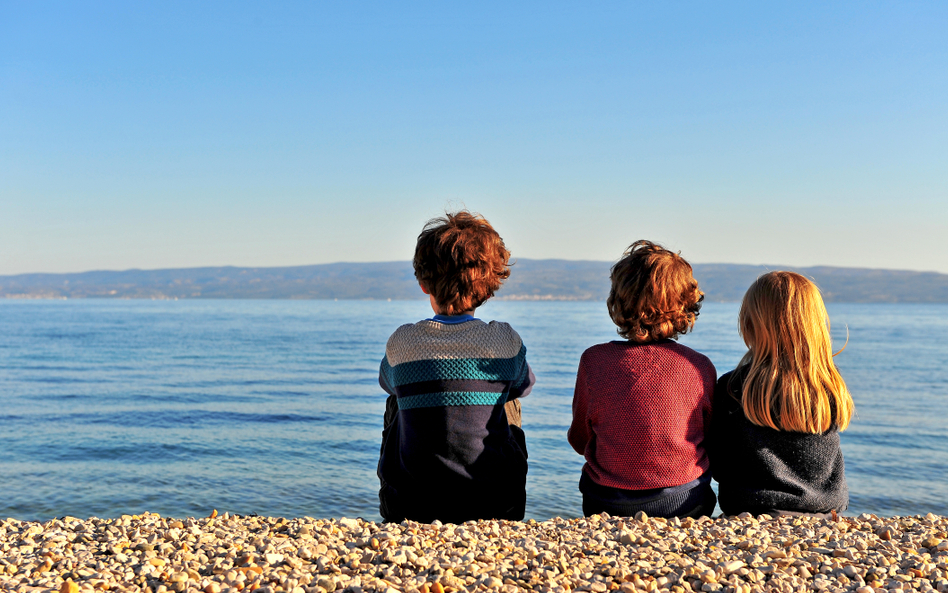
{"type": "Polygon", "coordinates": [[[833,363],[829,315],[816,285],[794,272],[759,277],[738,321],[747,354],[741,405],[748,420],[774,430],[845,430],[853,399],[833,363]]]}

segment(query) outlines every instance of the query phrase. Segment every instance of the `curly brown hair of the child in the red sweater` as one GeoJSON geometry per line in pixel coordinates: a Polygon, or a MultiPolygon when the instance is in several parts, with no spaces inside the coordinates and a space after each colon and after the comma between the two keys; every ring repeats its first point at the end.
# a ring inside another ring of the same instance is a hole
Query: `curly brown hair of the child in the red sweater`
{"type": "Polygon", "coordinates": [[[612,266],[606,306],[619,335],[633,342],[675,339],[694,326],[704,293],[681,255],[636,241],[612,266]]]}

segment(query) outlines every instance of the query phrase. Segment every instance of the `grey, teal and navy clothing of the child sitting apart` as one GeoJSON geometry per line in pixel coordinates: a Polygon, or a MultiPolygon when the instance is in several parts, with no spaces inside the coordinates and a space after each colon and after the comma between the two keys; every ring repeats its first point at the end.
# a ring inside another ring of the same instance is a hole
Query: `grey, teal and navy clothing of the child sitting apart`
{"type": "Polygon", "coordinates": [[[435,316],[398,328],[379,371],[390,395],[379,459],[382,515],[489,518],[503,514],[497,509],[511,496],[523,500],[523,432],[509,425],[504,404],[533,383],[526,348],[506,323],[435,316]],[[386,495],[401,512],[385,512],[386,495]]]}

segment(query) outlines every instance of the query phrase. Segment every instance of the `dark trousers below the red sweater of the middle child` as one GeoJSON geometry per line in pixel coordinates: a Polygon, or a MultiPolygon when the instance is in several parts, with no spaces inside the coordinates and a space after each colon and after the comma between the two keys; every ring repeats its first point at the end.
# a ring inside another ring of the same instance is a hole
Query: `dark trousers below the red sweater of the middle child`
{"type": "Polygon", "coordinates": [[[632,517],[644,511],[650,517],[710,517],[717,502],[711,490],[711,472],[681,486],[651,490],[602,486],[583,472],[579,489],[583,493],[583,514],[586,516],[609,513],[632,517]]]}

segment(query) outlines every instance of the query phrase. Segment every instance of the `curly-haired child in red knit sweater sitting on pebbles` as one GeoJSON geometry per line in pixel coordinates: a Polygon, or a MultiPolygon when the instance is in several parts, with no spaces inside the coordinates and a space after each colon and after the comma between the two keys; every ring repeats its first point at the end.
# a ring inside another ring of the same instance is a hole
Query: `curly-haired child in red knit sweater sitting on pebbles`
{"type": "Polygon", "coordinates": [[[586,457],[583,513],[698,517],[714,510],[704,434],[716,377],[673,339],[704,293],[680,255],[636,241],[612,267],[606,305],[625,341],[583,353],[569,442],[586,457]]]}

